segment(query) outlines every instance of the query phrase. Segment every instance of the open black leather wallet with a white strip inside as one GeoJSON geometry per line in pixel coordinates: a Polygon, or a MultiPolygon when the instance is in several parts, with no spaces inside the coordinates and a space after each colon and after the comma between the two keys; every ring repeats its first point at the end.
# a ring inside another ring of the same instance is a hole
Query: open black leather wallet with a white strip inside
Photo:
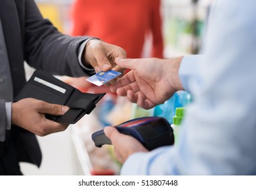
{"type": "Polygon", "coordinates": [[[63,124],[75,124],[85,114],[90,114],[105,93],[91,94],[58,80],[43,71],[36,70],[14,102],[25,98],[39,99],[47,103],[66,105],[70,109],[63,115],[46,115],[47,119],[63,124]]]}

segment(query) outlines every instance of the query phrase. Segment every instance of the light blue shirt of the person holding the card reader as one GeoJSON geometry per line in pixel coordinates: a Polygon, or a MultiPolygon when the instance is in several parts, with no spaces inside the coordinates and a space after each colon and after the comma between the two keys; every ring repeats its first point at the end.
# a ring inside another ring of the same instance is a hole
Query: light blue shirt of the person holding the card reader
{"type": "Polygon", "coordinates": [[[135,153],[122,175],[256,174],[256,1],[217,1],[174,146],[135,153]]]}

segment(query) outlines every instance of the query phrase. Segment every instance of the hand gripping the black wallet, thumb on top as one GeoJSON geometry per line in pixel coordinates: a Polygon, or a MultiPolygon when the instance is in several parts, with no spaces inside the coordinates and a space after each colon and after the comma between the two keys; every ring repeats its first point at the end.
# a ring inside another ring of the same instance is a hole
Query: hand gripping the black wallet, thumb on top
{"type": "Polygon", "coordinates": [[[38,136],[46,136],[66,130],[68,125],[45,119],[45,114],[63,115],[68,109],[66,106],[49,104],[36,99],[22,99],[12,103],[11,123],[38,136]]]}

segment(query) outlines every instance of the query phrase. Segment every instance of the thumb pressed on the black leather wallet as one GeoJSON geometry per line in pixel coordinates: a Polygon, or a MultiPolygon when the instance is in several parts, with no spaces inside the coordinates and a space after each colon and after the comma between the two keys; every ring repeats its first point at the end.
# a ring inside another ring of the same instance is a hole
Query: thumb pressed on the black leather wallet
{"type": "Polygon", "coordinates": [[[39,104],[38,109],[40,113],[45,113],[50,115],[63,115],[70,108],[63,105],[56,105],[56,104],[43,102],[41,105],[39,104]]]}

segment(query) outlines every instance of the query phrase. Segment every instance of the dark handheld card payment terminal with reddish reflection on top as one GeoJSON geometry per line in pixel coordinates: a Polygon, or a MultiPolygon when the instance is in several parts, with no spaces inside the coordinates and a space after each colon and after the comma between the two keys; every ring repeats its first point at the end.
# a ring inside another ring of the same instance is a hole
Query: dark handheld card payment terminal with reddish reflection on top
{"type": "MultiPolygon", "coordinates": [[[[172,127],[163,117],[140,117],[115,127],[122,134],[136,138],[149,151],[159,146],[174,144],[172,127]]],[[[103,130],[93,133],[92,138],[97,147],[101,147],[103,144],[111,144],[103,130]]]]}

